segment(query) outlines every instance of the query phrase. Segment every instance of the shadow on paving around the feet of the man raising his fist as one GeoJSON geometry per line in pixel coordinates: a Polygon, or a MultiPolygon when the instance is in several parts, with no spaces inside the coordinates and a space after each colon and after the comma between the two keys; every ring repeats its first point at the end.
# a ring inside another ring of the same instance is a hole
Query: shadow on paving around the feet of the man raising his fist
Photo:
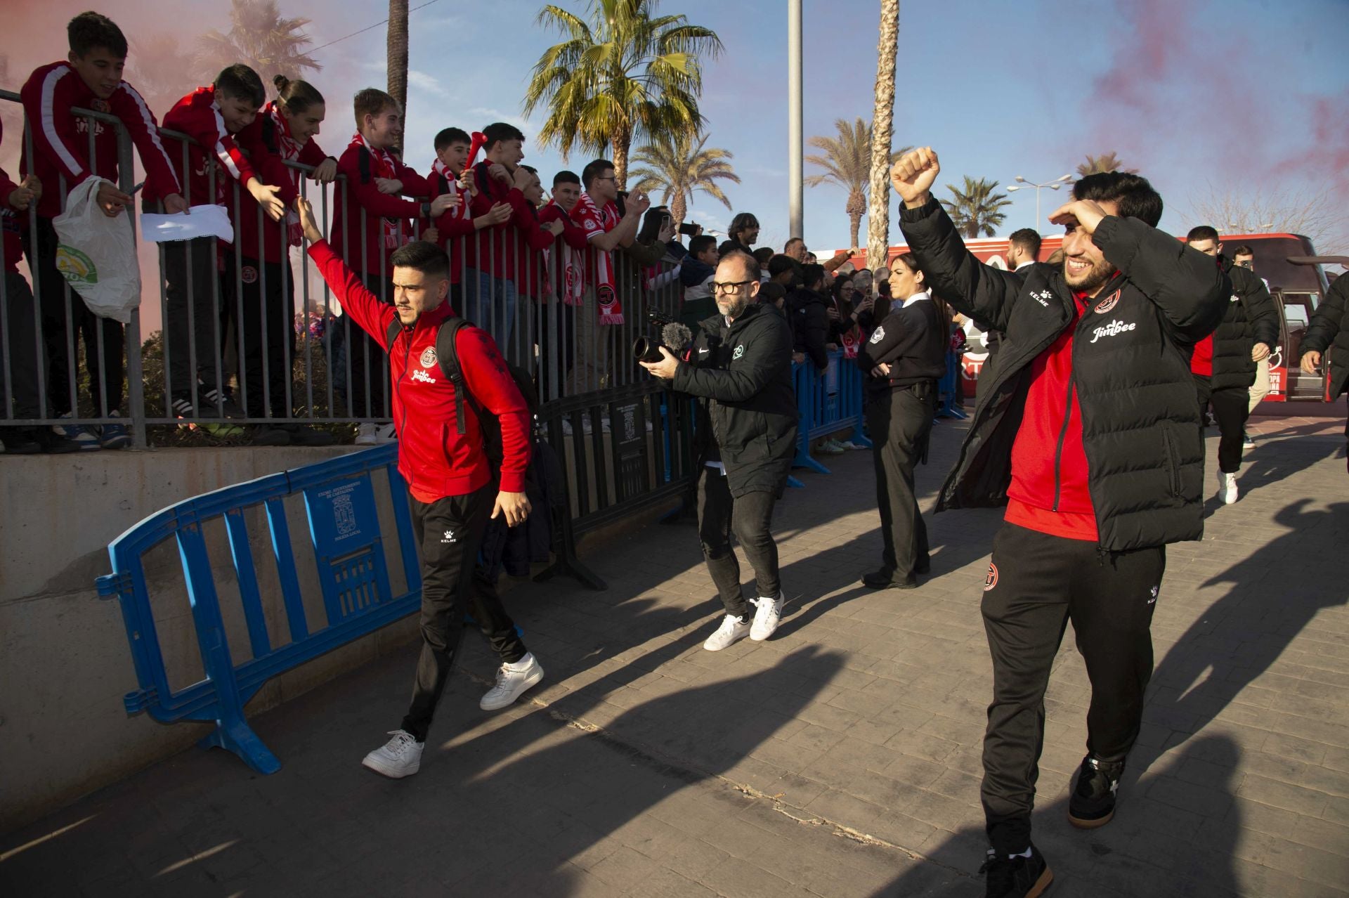
{"type": "MultiPolygon", "coordinates": [[[[1054,898],[1170,898],[1172,895],[1226,897],[1240,894],[1233,849],[1241,817],[1232,806],[1224,817],[1210,816],[1198,827],[1166,804],[1168,783],[1198,778],[1191,767],[1218,765],[1226,775],[1205,779],[1215,796],[1232,802],[1233,771],[1240,750],[1228,736],[1195,739],[1166,770],[1120,787],[1114,820],[1099,829],[1075,829],[1067,821],[1067,798],[1036,808],[1035,844],[1054,871],[1054,898]],[[1136,800],[1148,794],[1152,801],[1136,800]]],[[[1041,783],[1050,785],[1050,783],[1041,783]]],[[[1058,783],[1052,783],[1058,791],[1058,783]]],[[[1174,796],[1183,805],[1180,796],[1174,796]]],[[[1193,814],[1190,814],[1193,817],[1193,814]]],[[[934,836],[938,839],[938,836],[934,836]]],[[[924,844],[917,864],[871,898],[969,898],[983,894],[978,874],[987,841],[982,825],[924,844]]]]}

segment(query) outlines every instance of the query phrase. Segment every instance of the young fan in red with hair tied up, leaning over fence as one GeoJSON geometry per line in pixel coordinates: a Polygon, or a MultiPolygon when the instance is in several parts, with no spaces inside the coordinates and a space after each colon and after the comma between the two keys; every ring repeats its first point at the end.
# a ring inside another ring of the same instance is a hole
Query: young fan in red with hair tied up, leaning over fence
{"type": "MultiPolygon", "coordinates": [[[[337,160],[318,147],[326,112],[324,96],[308,81],[277,76],[278,97],[262,115],[237,135],[237,143],[262,177],[277,185],[278,197],[289,208],[299,196],[301,170],[286,163],[313,166],[310,177],[329,183],[337,177],[337,160]]],[[[290,247],[299,245],[299,218],[287,212],[282,221],[272,221],[248,194],[240,193],[235,214],[239,225],[237,276],[227,278],[225,318],[232,320],[243,338],[244,410],[250,418],[289,418],[294,398],[291,361],[295,334],[293,328],[295,280],[290,266],[290,247]]],[[[229,266],[235,268],[233,264],[229,266]]],[[[332,434],[301,427],[295,423],[259,425],[252,444],[263,446],[324,446],[332,434]]]]}

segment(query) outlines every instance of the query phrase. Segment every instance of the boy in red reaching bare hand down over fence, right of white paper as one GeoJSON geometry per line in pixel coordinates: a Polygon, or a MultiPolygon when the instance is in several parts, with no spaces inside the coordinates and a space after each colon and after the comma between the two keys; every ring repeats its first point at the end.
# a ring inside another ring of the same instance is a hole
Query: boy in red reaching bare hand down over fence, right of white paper
{"type": "MultiPolygon", "coordinates": [[[[262,182],[235,142],[235,135],[258,117],[263,100],[262,78],[240,63],[223,70],[213,85],[197,88],[165,115],[165,129],[181,131],[196,140],[178,143],[169,154],[178,177],[188,185],[189,205],[232,206],[233,181],[272,221],[285,213],[278,187],[262,182]]],[[[146,204],[156,198],[161,197],[151,185],[146,190],[146,204]]],[[[169,198],[162,198],[167,210],[169,198]]],[[[216,364],[227,302],[219,271],[214,237],[163,244],[165,392],[173,399],[174,414],[179,418],[244,417],[243,409],[221,390],[224,373],[216,364]]],[[[225,278],[232,275],[231,271],[225,278]]]]}

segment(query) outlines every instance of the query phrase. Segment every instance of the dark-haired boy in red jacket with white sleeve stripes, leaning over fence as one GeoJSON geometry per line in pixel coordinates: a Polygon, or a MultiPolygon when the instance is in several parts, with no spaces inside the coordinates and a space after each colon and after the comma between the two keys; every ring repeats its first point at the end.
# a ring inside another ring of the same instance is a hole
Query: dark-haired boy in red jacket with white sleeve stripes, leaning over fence
{"type": "MultiPolygon", "coordinates": [[[[127,129],[146,167],[148,185],[165,197],[170,212],[185,210],[182,189],[159,140],[158,123],[135,88],[121,80],[127,39],[107,16],[82,12],[66,26],[70,55],[40,66],[23,85],[23,113],[32,135],[32,152],[24,147],[20,175],[36,175],[46,186],[36,204],[36,228],[24,231],[34,286],[42,309],[42,336],[47,352],[47,403],[51,413],[67,417],[78,402],[70,382],[69,347],[84,337],[89,368],[89,399],[100,418],[119,417],[123,382],[123,330],[112,318],[98,318],[78,295],[67,293],[57,271],[57,232],[51,220],[61,214],[66,197],[88,178],[105,178],[97,202],[115,217],[131,202],[117,189],[117,129],[76,115],[74,108],[116,116],[127,129]],[[93,139],[90,140],[90,128],[93,139]],[[34,233],[35,231],[35,233],[34,233]],[[34,236],[36,237],[34,243],[34,236]],[[69,318],[66,298],[69,295],[69,318]],[[101,334],[101,348],[100,348],[101,334]]],[[[46,414],[46,410],[40,410],[46,414]]],[[[101,436],[81,426],[61,427],[81,449],[120,449],[131,445],[125,426],[109,422],[101,436]]]]}

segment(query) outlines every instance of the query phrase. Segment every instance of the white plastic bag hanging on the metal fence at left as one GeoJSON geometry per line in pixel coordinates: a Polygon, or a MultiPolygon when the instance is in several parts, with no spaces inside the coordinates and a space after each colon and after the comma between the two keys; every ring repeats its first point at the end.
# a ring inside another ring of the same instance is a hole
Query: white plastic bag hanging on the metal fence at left
{"type": "Polygon", "coordinates": [[[131,210],[109,218],[98,208],[98,185],[88,178],[66,198],[66,210],[53,218],[59,244],[57,271],[100,318],[127,324],[140,305],[140,266],[136,263],[131,210]]]}

